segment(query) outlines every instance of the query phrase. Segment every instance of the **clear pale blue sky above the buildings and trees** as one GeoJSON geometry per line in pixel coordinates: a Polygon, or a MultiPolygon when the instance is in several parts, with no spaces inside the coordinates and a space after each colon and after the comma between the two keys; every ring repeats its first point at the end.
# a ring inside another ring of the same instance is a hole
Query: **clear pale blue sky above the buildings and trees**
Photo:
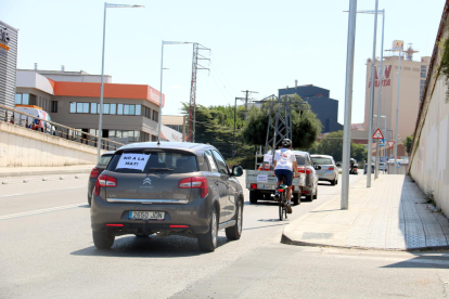
{"type": "MultiPolygon", "coordinates": [[[[101,74],[103,1],[2,0],[0,20],[18,28],[17,68],[85,70],[101,74]]],[[[241,90],[255,99],[278,89],[315,84],[339,101],[343,122],[349,0],[149,1],[144,9],[107,9],[105,74],[114,83],[159,89],[162,40],[194,41],[211,49],[207,70],[198,72],[196,103],[234,105],[241,90]]],[[[374,10],[359,0],[358,10],[374,10]]],[[[444,0],[380,0],[386,10],[385,49],[394,39],[413,43],[414,60],[432,55],[444,0]]],[[[365,60],[372,56],[373,15],[358,14],[352,123],[363,121],[365,60]]],[[[381,21],[381,18],[380,18],[381,21]]],[[[381,25],[381,23],[379,23],[381,25]]],[[[381,26],[377,53],[380,56],[381,26]]],[[[209,54],[204,52],[204,54],[209,54]]],[[[180,114],[189,102],[192,46],[165,46],[164,115],[180,114]]]]}

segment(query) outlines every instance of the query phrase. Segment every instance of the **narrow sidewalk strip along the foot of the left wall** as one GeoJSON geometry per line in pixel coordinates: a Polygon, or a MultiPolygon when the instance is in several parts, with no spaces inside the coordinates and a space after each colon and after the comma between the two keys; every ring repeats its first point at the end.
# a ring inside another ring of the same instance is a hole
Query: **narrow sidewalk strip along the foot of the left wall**
{"type": "Polygon", "coordinates": [[[95,165],[55,167],[0,167],[0,178],[66,173],[89,173],[95,165]]]}

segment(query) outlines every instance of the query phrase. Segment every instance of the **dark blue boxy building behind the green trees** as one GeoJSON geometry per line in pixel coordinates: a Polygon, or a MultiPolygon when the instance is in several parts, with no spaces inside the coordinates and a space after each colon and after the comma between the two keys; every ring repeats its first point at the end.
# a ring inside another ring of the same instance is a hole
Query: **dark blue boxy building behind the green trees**
{"type": "Polygon", "coordinates": [[[338,101],[330,98],[328,89],[308,84],[279,90],[279,96],[287,94],[297,94],[310,105],[311,110],[323,125],[322,133],[343,130],[343,125],[338,123],[338,101]]]}

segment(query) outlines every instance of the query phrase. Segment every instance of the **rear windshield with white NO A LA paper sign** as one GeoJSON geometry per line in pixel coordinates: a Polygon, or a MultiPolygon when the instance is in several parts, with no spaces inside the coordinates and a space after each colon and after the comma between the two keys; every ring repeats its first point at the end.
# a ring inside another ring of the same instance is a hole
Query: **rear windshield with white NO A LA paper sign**
{"type": "Polygon", "coordinates": [[[187,173],[197,169],[196,156],[193,154],[149,150],[117,153],[107,166],[107,170],[123,173],[187,173]]]}

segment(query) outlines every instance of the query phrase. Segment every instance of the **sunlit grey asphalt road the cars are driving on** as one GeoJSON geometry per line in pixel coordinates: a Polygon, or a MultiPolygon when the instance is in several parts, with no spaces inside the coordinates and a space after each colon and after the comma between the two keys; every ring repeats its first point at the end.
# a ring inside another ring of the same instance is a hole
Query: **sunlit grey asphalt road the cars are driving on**
{"type": "MultiPolygon", "coordinates": [[[[3,179],[0,185],[0,298],[447,298],[449,253],[385,252],[280,244],[288,222],[341,192],[278,220],[273,203],[248,204],[240,240],[219,234],[215,252],[187,237],[117,237],[97,250],[88,174],[3,179]],[[27,181],[24,183],[23,181],[27,181]]],[[[364,176],[350,176],[361,180],[364,176]]],[[[243,183],[244,179],[242,179],[243,183]]]]}

